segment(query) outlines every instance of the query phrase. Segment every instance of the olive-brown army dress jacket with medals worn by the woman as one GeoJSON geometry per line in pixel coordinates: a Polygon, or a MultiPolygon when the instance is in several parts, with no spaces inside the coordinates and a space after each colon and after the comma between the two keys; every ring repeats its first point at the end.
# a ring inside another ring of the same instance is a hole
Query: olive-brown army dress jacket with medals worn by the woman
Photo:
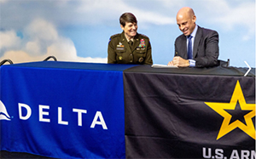
{"type": "Polygon", "coordinates": [[[153,65],[149,38],[137,33],[130,48],[124,31],[113,35],[108,43],[108,63],[153,65]]]}

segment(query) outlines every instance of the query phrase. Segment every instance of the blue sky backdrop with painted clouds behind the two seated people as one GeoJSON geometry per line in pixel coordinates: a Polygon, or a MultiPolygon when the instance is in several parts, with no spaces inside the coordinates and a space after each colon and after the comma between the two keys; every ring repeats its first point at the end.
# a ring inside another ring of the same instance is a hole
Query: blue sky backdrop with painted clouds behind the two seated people
{"type": "Polygon", "coordinates": [[[152,45],[154,64],[167,64],[182,32],[176,14],[191,7],[196,24],[219,34],[219,60],[255,67],[254,0],[0,0],[0,60],[101,62],[108,40],[120,33],[119,16],[137,16],[138,32],[152,45]]]}

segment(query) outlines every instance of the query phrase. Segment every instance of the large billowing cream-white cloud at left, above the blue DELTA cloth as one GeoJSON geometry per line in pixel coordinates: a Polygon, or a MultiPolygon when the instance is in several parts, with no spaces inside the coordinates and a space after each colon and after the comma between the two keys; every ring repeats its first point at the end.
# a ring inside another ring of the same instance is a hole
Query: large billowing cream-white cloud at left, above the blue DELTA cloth
{"type": "Polygon", "coordinates": [[[29,38],[20,39],[15,35],[15,31],[0,32],[0,37],[5,39],[1,40],[3,43],[0,44],[0,48],[9,48],[0,58],[1,61],[9,59],[14,63],[22,63],[41,61],[48,56],[55,56],[61,61],[107,63],[107,58],[78,57],[73,42],[66,37],[58,36],[55,26],[46,20],[34,20],[25,30],[24,37],[29,38]],[[21,40],[26,47],[17,45],[21,40]]]}

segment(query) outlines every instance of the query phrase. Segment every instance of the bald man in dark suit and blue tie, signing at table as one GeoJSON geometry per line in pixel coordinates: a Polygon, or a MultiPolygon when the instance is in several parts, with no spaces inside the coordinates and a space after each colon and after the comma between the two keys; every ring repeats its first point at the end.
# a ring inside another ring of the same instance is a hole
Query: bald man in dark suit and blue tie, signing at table
{"type": "Polygon", "coordinates": [[[177,26],[183,35],[177,37],[175,56],[168,65],[178,67],[218,65],[218,32],[197,26],[195,20],[195,13],[189,7],[177,12],[177,26]]]}

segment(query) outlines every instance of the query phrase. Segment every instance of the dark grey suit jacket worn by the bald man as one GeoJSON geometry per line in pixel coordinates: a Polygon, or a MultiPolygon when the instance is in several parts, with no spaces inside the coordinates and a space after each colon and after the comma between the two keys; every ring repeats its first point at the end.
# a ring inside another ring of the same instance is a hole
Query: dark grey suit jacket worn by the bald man
{"type": "MultiPolygon", "coordinates": [[[[181,35],[175,40],[175,56],[188,59],[187,37],[181,35]]],[[[218,65],[218,32],[209,29],[198,29],[195,34],[193,60],[195,67],[211,67],[218,65]]]]}

